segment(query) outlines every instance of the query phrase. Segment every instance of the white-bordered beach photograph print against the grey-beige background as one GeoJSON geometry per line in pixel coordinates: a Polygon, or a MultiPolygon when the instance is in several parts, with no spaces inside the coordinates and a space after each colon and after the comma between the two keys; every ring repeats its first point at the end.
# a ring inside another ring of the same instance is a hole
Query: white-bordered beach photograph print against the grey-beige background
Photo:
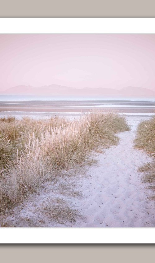
{"type": "Polygon", "coordinates": [[[154,243],[155,18],[0,18],[0,243],[154,243]]]}

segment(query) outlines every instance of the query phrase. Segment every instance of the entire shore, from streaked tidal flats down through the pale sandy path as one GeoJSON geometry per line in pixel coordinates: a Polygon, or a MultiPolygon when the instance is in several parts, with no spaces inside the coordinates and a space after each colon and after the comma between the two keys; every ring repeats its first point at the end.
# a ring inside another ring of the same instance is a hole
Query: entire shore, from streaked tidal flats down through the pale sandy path
{"type": "Polygon", "coordinates": [[[26,227],[25,220],[39,218],[44,221],[41,226],[47,227],[154,227],[154,203],[147,199],[150,190],[142,184],[143,174],[138,172],[139,166],[152,159],[145,152],[135,149],[133,143],[137,125],[154,115],[153,99],[1,100],[0,116],[14,115],[18,120],[24,116],[36,120],[62,116],[67,120],[76,120],[94,107],[103,112],[117,110],[118,114],[126,115],[130,131],[118,134],[118,145],[103,149],[103,153],[93,153],[97,164],[85,166],[83,172],[76,172],[75,175],[73,170],[72,176],[66,174],[57,182],[46,182],[38,195],[32,194],[28,200],[14,207],[7,217],[9,222],[26,227]],[[66,195],[66,192],[72,194],[66,195]],[[36,207],[48,203],[50,198],[64,199],[82,217],[76,223],[65,221],[64,224],[45,219],[36,207]]]}

